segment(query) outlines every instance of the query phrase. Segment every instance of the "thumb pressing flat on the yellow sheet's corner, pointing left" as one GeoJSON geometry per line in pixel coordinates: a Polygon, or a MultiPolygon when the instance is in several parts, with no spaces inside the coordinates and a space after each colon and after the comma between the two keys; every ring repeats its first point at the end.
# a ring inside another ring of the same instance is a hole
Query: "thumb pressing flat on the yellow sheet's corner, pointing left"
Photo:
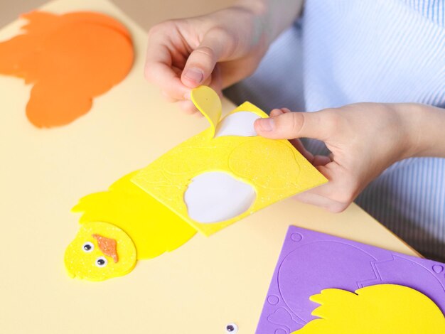
{"type": "Polygon", "coordinates": [[[331,113],[321,112],[286,112],[276,117],[257,119],[255,131],[260,136],[270,139],[312,138],[321,141],[333,133],[331,113]]]}

